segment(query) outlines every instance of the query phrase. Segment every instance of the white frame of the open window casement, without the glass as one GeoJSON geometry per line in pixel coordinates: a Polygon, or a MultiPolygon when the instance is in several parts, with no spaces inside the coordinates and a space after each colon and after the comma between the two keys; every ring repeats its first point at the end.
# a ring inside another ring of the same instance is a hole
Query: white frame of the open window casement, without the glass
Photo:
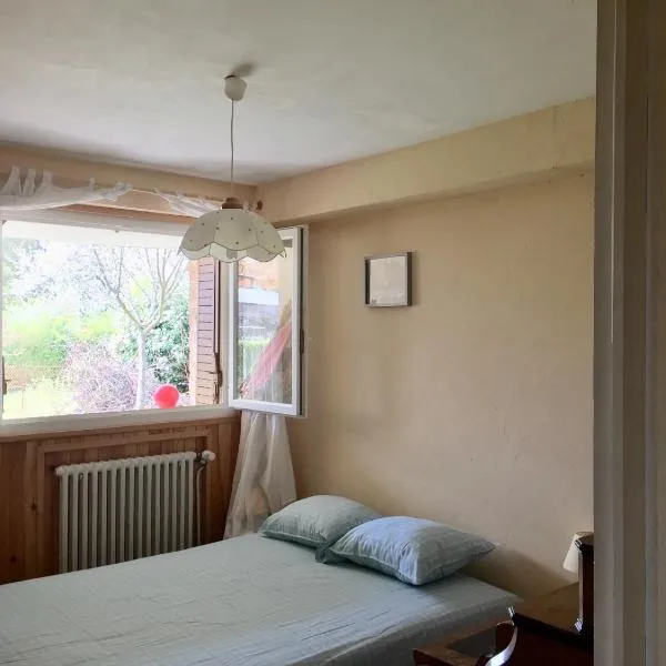
{"type": "Polygon", "coordinates": [[[293,243],[293,293],[292,293],[292,403],[274,403],[261,400],[235,397],[235,377],[238,367],[238,263],[229,266],[228,299],[228,404],[235,410],[268,412],[284,416],[305,415],[305,268],[307,251],[307,229],[289,226],[279,230],[281,238],[293,243]]]}

